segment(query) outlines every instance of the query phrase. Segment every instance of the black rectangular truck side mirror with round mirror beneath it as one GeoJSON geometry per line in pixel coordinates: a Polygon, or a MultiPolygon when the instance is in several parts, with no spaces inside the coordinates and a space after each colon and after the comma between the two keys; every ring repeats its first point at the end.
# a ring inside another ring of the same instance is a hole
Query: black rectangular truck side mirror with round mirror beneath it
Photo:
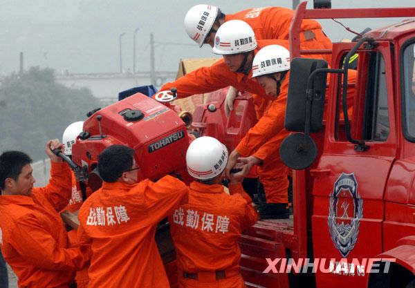
{"type": "Polygon", "coordinates": [[[285,127],[294,133],[279,148],[282,162],[291,169],[306,169],[317,156],[310,132],[322,128],[327,63],[324,60],[295,58],[291,62],[285,127]]]}

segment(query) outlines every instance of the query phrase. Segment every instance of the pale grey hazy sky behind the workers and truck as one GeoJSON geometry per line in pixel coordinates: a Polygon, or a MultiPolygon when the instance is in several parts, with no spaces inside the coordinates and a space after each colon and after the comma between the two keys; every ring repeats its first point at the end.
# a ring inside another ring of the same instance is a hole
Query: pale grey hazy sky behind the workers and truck
{"type": "MultiPolygon", "coordinates": [[[[19,69],[19,52],[25,68],[50,67],[71,73],[116,73],[119,71],[118,37],[122,32],[124,68],[133,68],[133,32],[137,33],[136,67],[149,70],[149,33],[156,42],[194,44],[187,37],[183,19],[198,3],[219,6],[232,13],[252,7],[284,6],[291,1],[190,1],[190,0],[0,0],[0,75],[19,69]]],[[[333,0],[333,8],[414,7],[414,0],[333,0]]],[[[308,3],[311,7],[311,1],[308,3]]],[[[400,19],[342,19],[360,32],[400,19]]],[[[333,21],[320,21],[332,39],[353,35],[333,21]]],[[[156,44],[156,69],[176,71],[180,58],[212,57],[211,49],[198,46],[156,44]]]]}

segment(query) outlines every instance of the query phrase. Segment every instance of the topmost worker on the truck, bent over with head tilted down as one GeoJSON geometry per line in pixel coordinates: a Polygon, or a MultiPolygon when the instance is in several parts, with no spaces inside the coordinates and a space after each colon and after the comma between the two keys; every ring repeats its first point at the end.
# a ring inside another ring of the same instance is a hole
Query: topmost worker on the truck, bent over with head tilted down
{"type": "MultiPolygon", "coordinates": [[[[255,32],[257,40],[284,39],[289,40],[291,21],[295,11],[283,7],[250,8],[235,14],[223,14],[216,6],[199,4],[190,8],[185,16],[185,30],[187,35],[199,44],[209,44],[214,47],[216,32],[223,23],[231,20],[241,20],[249,24],[255,32]]],[[[304,19],[300,27],[300,48],[331,49],[329,37],[322,31],[322,26],[315,20],[304,19]]],[[[308,57],[320,58],[331,64],[331,55],[308,55],[308,57]]],[[[225,112],[233,109],[233,102],[238,91],[230,88],[225,99],[225,112]]]]}

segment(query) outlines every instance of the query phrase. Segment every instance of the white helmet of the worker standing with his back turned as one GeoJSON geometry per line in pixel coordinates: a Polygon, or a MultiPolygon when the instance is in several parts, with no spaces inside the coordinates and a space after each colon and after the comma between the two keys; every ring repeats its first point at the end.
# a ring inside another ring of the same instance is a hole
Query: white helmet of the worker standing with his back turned
{"type": "Polygon", "coordinates": [[[219,140],[203,136],[194,140],[186,153],[187,172],[200,180],[220,175],[228,163],[228,149],[219,140]]]}

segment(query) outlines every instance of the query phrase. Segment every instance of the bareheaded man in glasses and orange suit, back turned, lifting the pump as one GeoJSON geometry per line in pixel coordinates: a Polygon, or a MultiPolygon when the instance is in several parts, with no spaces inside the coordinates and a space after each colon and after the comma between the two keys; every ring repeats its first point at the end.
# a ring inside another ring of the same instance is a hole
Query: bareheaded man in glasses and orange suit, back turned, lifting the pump
{"type": "Polygon", "coordinates": [[[187,202],[188,189],[165,176],[138,182],[134,150],[122,145],[98,156],[102,188],[82,204],[80,244],[91,245],[89,288],[169,287],[154,240],[160,220],[187,202]]]}

